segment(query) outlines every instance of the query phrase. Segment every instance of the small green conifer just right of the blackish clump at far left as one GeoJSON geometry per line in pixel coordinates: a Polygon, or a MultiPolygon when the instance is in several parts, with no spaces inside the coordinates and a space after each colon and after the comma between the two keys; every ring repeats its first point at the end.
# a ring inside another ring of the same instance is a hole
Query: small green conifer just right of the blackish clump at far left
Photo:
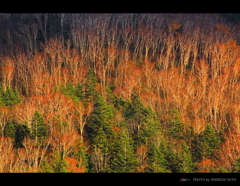
{"type": "Polygon", "coordinates": [[[32,132],[31,137],[35,138],[36,141],[44,140],[47,136],[47,127],[43,120],[43,117],[39,111],[36,111],[32,119],[32,132]]]}

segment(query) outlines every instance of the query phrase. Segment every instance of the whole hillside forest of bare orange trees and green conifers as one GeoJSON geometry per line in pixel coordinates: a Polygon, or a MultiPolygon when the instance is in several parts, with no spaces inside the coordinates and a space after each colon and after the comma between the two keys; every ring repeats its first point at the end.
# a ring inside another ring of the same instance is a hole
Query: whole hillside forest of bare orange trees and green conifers
{"type": "Polygon", "coordinates": [[[239,28],[0,14],[0,172],[240,172],[239,28]]]}

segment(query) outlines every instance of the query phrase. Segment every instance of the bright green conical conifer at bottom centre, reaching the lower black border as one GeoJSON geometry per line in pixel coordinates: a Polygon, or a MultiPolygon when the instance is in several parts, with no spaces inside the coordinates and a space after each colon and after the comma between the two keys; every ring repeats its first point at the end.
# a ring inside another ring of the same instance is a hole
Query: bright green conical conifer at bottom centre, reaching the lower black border
{"type": "Polygon", "coordinates": [[[127,128],[122,128],[114,142],[111,172],[134,172],[137,166],[138,162],[134,155],[133,141],[127,128]]]}

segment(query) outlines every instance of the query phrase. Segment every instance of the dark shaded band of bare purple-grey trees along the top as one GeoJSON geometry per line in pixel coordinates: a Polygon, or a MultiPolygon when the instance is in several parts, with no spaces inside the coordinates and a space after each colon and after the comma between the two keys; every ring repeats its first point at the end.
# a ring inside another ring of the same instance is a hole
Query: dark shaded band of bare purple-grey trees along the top
{"type": "MultiPolygon", "coordinates": [[[[216,29],[216,24],[230,28],[233,34],[235,25],[226,22],[225,18],[234,21],[234,15],[236,14],[2,13],[0,15],[1,56],[14,54],[14,51],[18,51],[18,47],[32,55],[37,50],[41,50],[43,43],[54,37],[62,41],[70,40],[71,46],[86,50],[91,43],[89,35],[93,34],[101,37],[108,44],[125,49],[129,46],[136,48],[138,42],[144,38],[143,35],[149,30],[152,32],[149,36],[156,42],[151,44],[156,46],[166,35],[175,31],[191,32],[196,26],[199,27],[198,32],[202,35],[212,33],[216,29]],[[173,20],[178,20],[178,23],[174,24],[173,20]],[[177,24],[181,27],[177,28],[177,24]],[[109,43],[110,40],[115,43],[109,43]]],[[[221,34],[212,36],[217,37],[212,38],[213,40],[218,39],[220,42],[229,39],[226,36],[222,37],[221,34]]]]}

